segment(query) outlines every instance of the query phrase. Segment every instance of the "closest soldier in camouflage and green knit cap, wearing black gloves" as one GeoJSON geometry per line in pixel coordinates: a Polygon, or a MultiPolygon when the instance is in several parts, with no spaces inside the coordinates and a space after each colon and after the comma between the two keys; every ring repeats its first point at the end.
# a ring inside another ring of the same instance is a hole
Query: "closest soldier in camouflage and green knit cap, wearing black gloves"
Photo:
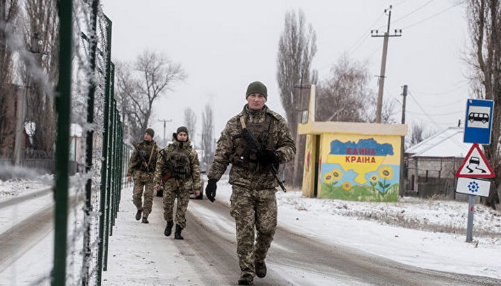
{"type": "Polygon", "coordinates": [[[267,88],[259,81],[246,92],[244,110],[231,118],[217,141],[214,161],[209,168],[205,194],[214,202],[216,182],[232,164],[230,214],[237,228],[237,254],[241,276],[239,285],[250,285],[254,276],[266,276],[264,259],[273,240],[277,224],[275,193],[278,182],[270,165],[278,166],[294,159],[296,146],[285,119],[271,111],[267,88]],[[248,153],[248,143],[238,136],[246,127],[261,144],[261,150],[248,153]],[[255,237],[255,230],[257,236],[255,237]]]}

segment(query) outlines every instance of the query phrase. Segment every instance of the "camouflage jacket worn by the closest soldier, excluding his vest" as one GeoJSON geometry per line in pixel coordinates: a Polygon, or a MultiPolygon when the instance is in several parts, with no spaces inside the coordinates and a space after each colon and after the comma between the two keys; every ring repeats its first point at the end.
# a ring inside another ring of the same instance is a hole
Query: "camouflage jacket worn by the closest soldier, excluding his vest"
{"type": "MultiPolygon", "coordinates": [[[[283,164],[294,159],[296,145],[294,145],[285,118],[271,111],[266,105],[260,111],[252,111],[248,109],[246,104],[241,113],[228,120],[226,127],[221,132],[221,137],[217,141],[214,161],[212,161],[207,173],[209,179],[221,179],[226,167],[230,164],[230,157],[235,152],[236,147],[233,136],[240,134],[242,129],[240,117],[243,116],[246,122],[264,122],[267,114],[273,118],[269,129],[269,140],[271,140],[269,145],[275,146],[274,150],[278,154],[278,163],[283,164]]],[[[275,177],[267,168],[253,172],[235,165],[232,165],[230,170],[230,184],[256,190],[272,189],[278,186],[275,177]]]]}

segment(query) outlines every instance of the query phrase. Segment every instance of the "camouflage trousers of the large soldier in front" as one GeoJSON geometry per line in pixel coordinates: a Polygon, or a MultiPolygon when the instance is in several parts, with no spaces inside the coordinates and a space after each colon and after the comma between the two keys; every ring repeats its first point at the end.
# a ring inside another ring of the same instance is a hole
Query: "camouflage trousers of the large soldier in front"
{"type": "Polygon", "coordinates": [[[264,261],[275,235],[276,189],[257,191],[241,186],[232,186],[232,189],[230,214],[235,219],[237,229],[241,275],[248,273],[254,276],[254,262],[264,261]]]}

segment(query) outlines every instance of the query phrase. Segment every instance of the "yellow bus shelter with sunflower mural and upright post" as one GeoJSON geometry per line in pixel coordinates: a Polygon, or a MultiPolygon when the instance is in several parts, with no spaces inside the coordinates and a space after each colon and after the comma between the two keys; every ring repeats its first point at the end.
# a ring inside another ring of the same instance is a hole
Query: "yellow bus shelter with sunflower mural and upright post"
{"type": "Polygon", "coordinates": [[[315,86],[306,134],[303,195],[344,200],[397,201],[400,142],[407,125],[316,122],[315,86]]]}

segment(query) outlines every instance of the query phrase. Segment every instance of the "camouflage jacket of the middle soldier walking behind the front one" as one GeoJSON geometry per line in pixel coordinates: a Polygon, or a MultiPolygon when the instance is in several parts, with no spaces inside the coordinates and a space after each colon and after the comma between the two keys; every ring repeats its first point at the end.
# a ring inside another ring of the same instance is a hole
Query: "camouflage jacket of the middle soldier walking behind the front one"
{"type": "Polygon", "coordinates": [[[191,141],[179,142],[173,139],[173,143],[169,144],[166,148],[161,150],[157,159],[157,169],[154,173],[153,183],[161,184],[161,177],[164,175],[164,170],[166,168],[166,159],[169,159],[169,153],[172,153],[174,149],[182,150],[186,152],[189,157],[189,170],[190,173],[184,179],[174,179],[171,178],[167,180],[166,184],[175,184],[174,180],[177,180],[177,184],[180,184],[182,189],[202,189],[202,179],[200,177],[200,162],[198,161],[197,152],[191,147],[191,141]],[[181,144],[182,143],[182,144],[181,144]]]}

